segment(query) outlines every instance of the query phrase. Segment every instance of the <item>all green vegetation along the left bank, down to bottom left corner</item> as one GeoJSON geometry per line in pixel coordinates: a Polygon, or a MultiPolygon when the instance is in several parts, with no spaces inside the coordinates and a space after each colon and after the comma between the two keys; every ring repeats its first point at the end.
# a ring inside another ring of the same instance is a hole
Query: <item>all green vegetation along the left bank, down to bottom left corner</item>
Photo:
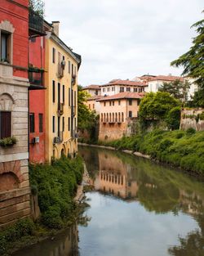
{"type": "Polygon", "coordinates": [[[82,182],[82,159],[54,159],[52,164],[29,166],[31,192],[38,195],[41,211],[36,222],[25,218],[7,227],[0,234],[0,255],[38,241],[76,221],[77,209],[73,196],[82,182]]]}

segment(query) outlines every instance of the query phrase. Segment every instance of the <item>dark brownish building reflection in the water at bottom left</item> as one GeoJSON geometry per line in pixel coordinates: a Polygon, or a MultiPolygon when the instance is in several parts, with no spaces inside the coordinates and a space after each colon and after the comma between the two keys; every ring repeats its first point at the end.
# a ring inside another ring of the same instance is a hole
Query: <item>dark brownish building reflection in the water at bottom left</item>
{"type": "Polygon", "coordinates": [[[78,256],[78,226],[73,225],[63,233],[22,249],[12,256],[78,256]]]}

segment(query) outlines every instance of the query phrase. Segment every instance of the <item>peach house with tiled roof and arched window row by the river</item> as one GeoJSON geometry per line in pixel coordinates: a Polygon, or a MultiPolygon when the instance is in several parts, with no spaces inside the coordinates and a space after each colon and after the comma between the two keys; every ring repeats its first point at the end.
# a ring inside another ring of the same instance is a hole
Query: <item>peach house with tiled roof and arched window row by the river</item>
{"type": "Polygon", "coordinates": [[[120,92],[103,97],[100,102],[100,141],[112,141],[133,133],[133,125],[138,118],[140,99],[143,93],[120,92]]]}

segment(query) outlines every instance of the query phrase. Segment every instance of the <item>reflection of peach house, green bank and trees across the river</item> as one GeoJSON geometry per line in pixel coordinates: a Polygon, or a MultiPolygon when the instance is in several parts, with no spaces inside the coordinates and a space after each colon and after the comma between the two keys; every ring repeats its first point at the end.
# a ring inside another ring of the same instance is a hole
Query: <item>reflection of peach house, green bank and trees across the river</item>
{"type": "Polygon", "coordinates": [[[119,152],[80,147],[80,154],[96,191],[126,202],[138,201],[149,213],[184,213],[197,222],[198,228],[185,236],[178,231],[177,243],[166,249],[168,255],[204,255],[203,182],[119,152]]]}

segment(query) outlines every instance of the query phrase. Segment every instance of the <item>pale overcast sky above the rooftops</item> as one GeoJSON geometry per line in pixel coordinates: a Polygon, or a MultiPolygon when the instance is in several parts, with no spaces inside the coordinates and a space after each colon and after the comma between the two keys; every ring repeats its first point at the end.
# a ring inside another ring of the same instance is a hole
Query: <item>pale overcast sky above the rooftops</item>
{"type": "Polygon", "coordinates": [[[82,56],[78,83],[143,74],[180,75],[170,62],[188,51],[203,0],[45,0],[45,19],[82,56]]]}

